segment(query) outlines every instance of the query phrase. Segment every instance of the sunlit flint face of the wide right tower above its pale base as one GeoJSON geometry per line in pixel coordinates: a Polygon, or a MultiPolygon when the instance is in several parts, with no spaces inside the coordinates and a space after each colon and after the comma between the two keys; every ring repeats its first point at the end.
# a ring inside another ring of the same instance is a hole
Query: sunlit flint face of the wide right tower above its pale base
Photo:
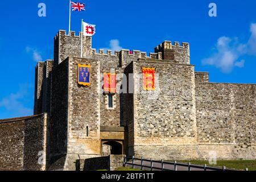
{"type": "Polygon", "coordinates": [[[134,124],[141,138],[196,137],[195,78],[193,65],[136,61],[133,71],[155,68],[156,89],[142,90],[142,77],[134,80],[134,124]]]}

